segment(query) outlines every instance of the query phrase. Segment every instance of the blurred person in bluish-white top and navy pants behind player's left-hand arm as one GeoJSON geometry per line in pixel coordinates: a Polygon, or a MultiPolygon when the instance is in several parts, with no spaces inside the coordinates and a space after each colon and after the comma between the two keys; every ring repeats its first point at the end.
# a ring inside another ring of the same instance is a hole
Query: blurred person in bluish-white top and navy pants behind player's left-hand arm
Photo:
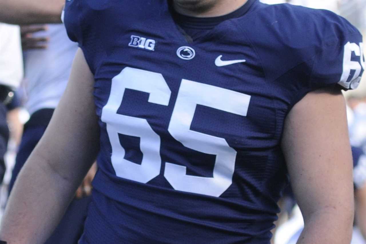
{"type": "MultiPolygon", "coordinates": [[[[25,63],[25,108],[30,119],[24,126],[9,192],[59,103],[77,49],[77,44],[68,39],[63,24],[22,26],[21,29],[25,63]]],[[[95,171],[94,166],[78,188],[76,199],[71,202],[64,218],[46,243],[77,243],[83,231],[90,201],[91,180],[95,171]]]]}

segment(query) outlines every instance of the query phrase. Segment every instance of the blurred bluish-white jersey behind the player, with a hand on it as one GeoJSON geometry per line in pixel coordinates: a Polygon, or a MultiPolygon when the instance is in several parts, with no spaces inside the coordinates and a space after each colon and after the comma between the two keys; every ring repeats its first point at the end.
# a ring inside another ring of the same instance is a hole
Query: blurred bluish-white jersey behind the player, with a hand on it
{"type": "Polygon", "coordinates": [[[48,37],[46,49],[24,52],[25,89],[29,114],[42,108],[56,108],[66,88],[78,44],[67,37],[63,24],[50,24],[34,37],[48,37]]]}

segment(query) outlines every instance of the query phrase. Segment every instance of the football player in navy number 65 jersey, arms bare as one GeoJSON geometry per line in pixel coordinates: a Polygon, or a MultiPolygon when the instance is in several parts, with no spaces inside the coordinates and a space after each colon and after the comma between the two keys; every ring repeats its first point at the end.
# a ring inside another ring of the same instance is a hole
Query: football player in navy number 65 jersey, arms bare
{"type": "Polygon", "coordinates": [[[70,81],[0,239],[42,243],[100,149],[79,243],[267,244],[288,175],[299,243],[350,241],[340,89],[365,59],[345,19],[258,0],[70,0],[64,22],[70,81]]]}

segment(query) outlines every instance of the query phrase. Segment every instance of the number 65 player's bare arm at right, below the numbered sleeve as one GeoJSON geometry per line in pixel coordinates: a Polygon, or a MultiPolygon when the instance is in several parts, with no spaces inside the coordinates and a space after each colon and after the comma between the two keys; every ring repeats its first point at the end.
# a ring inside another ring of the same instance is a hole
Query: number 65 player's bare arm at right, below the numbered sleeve
{"type": "Polygon", "coordinates": [[[350,243],[352,157],[340,91],[307,94],[285,121],[282,147],[305,228],[298,243],[350,243]]]}

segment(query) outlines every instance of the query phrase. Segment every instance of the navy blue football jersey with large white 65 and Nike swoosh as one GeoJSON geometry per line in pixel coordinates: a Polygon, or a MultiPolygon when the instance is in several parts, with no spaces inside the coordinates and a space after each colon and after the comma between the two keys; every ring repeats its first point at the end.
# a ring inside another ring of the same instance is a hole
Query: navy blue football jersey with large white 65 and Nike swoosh
{"type": "Polygon", "coordinates": [[[332,12],[246,7],[192,41],[166,0],[66,1],[100,118],[81,243],[269,243],[286,115],[311,90],[356,88],[365,63],[332,12]]]}

